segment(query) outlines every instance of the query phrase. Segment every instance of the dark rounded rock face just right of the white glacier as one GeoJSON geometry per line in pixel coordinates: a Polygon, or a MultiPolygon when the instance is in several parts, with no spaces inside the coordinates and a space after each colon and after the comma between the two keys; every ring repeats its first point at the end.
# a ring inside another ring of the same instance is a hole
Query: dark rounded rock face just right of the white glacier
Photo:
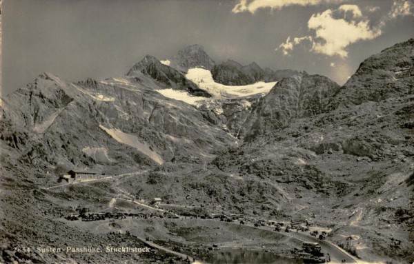
{"type": "Polygon", "coordinates": [[[248,138],[284,128],[295,119],[326,112],[339,85],[326,77],[295,74],[279,81],[259,100],[243,125],[248,138]]]}

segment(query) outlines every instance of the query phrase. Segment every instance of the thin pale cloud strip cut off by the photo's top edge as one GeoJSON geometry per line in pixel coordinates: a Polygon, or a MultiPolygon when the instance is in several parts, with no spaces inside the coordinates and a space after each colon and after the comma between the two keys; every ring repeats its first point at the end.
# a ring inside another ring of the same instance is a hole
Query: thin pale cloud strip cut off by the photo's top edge
{"type": "Polygon", "coordinates": [[[342,3],[346,0],[239,0],[239,3],[231,10],[237,14],[240,12],[250,12],[254,14],[262,8],[282,9],[287,6],[317,6],[328,3],[342,3]]]}

